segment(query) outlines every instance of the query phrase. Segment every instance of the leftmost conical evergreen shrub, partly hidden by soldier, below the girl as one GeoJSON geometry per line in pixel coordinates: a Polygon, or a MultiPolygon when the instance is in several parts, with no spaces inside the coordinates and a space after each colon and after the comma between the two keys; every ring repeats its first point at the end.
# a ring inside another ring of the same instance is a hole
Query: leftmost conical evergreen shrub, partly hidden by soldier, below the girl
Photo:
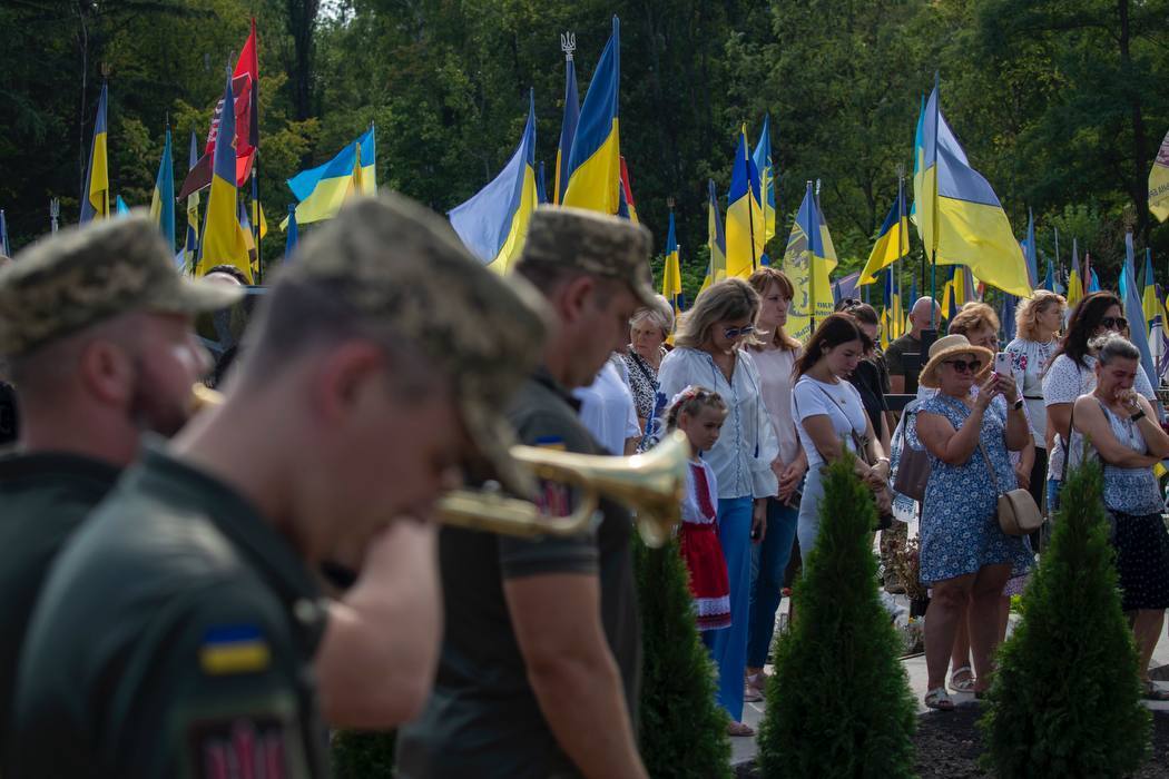
{"type": "Polygon", "coordinates": [[[732,775],[726,714],[714,702],[714,667],[698,638],[686,564],[671,540],[634,541],[642,614],[641,753],[651,777],[732,775]]]}

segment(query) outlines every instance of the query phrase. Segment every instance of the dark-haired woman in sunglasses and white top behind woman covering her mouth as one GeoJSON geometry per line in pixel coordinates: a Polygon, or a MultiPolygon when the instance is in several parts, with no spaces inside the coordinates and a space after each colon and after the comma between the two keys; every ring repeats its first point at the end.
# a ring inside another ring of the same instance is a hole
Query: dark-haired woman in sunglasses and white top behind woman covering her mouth
{"type": "MultiPolygon", "coordinates": [[[[1043,376],[1043,402],[1047,408],[1047,510],[1059,508],[1059,486],[1064,474],[1064,451],[1071,433],[1072,404],[1095,389],[1095,352],[1092,342],[1108,333],[1122,334],[1128,327],[1120,298],[1112,292],[1093,292],[1075,306],[1067,321],[1067,335],[1056,350],[1043,376]]],[[[1156,404],[1153,384],[1143,370],[1136,371],[1133,389],[1156,404]]]]}

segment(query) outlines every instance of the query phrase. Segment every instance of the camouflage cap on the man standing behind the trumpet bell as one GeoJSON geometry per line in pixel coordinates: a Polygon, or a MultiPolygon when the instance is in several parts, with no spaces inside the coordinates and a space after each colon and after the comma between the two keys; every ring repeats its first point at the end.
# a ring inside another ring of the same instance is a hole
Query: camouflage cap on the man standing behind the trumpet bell
{"type": "Polygon", "coordinates": [[[519,262],[572,266],[624,281],[643,306],[653,306],[652,243],[650,231],[629,220],[580,208],[541,206],[527,225],[519,262]]]}

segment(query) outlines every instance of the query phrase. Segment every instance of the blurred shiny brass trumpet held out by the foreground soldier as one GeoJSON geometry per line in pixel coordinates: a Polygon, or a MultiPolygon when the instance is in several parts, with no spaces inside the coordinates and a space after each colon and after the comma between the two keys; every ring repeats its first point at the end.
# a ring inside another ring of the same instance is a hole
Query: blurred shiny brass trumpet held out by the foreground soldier
{"type": "Polygon", "coordinates": [[[690,443],[675,432],[644,454],[603,457],[535,446],[513,446],[511,455],[548,481],[579,489],[579,505],[568,516],[548,516],[526,500],[498,492],[457,489],[435,509],[444,524],[512,536],[568,536],[584,533],[600,521],[602,496],[636,512],[637,531],[648,547],[660,547],[680,520],[686,488],[690,443]]]}

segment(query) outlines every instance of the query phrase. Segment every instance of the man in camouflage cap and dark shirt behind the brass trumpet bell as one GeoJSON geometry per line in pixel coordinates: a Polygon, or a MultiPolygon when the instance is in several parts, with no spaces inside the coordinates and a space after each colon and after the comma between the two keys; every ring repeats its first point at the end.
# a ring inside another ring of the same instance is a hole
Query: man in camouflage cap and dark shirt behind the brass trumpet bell
{"type": "MultiPolygon", "coordinates": [[[[600,453],[570,389],[590,383],[656,305],[650,237],[627,220],[563,208],[532,217],[514,276],[556,327],[509,411],[520,440],[600,453]]],[[[546,485],[540,502],[567,513],[546,485]]],[[[629,514],[603,506],[595,533],[538,541],[447,528],[440,538],[447,632],[435,689],[401,729],[404,779],[644,777],[637,753],[641,639],[629,514]]]]}

